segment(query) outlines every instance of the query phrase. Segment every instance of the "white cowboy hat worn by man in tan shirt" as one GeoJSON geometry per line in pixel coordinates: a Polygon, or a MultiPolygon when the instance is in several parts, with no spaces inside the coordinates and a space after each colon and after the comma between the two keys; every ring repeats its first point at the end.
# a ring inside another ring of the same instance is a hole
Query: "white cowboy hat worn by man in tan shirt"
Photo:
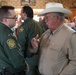
{"type": "Polygon", "coordinates": [[[66,16],[72,14],[72,12],[64,8],[61,3],[50,2],[46,4],[45,9],[42,12],[40,12],[38,16],[44,16],[45,14],[50,13],[50,12],[60,12],[66,16]]]}

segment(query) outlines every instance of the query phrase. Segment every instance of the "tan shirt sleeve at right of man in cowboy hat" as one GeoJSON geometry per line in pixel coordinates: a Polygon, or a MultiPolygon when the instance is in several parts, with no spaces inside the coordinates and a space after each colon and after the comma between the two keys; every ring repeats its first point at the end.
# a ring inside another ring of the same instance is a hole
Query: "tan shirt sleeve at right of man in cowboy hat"
{"type": "Polygon", "coordinates": [[[69,46],[69,63],[59,75],[76,75],[76,33],[71,36],[69,46]]]}

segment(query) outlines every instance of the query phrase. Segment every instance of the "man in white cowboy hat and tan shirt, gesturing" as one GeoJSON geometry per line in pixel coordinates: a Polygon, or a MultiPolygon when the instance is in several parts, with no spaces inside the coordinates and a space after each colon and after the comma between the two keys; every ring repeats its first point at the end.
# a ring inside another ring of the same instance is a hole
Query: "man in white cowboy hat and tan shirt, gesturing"
{"type": "Polygon", "coordinates": [[[31,40],[32,47],[40,51],[41,75],[76,75],[76,32],[64,24],[64,16],[71,11],[61,3],[47,3],[39,16],[45,16],[48,30],[31,40]]]}

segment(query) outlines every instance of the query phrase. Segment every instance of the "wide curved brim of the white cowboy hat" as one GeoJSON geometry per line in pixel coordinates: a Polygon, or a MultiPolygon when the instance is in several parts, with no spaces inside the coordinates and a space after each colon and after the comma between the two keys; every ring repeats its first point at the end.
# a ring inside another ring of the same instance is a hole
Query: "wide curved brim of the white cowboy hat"
{"type": "Polygon", "coordinates": [[[43,10],[42,12],[40,12],[38,16],[44,16],[45,14],[50,13],[50,12],[60,12],[60,13],[63,13],[65,16],[69,16],[72,14],[72,12],[66,8],[52,7],[52,8],[43,10]]]}

